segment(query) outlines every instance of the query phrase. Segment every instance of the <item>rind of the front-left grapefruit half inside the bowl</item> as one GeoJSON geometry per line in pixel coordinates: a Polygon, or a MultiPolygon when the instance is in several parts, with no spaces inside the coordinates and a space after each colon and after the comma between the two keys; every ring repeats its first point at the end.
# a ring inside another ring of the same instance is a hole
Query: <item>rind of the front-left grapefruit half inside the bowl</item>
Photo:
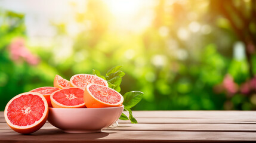
{"type": "MultiPolygon", "coordinates": [[[[75,88],[75,87],[71,87],[71,88],[75,88]]],[[[70,88],[64,88],[64,89],[70,89],[70,88]]],[[[60,90],[64,90],[64,89],[60,89],[60,90]]],[[[79,88],[79,89],[81,89],[82,91],[84,91],[84,89],[82,89],[82,88],[79,88]]],[[[84,107],[85,107],[85,103],[78,104],[78,105],[63,105],[63,104],[57,102],[56,100],[54,100],[53,95],[54,95],[56,92],[59,92],[60,90],[55,91],[55,92],[53,92],[53,93],[50,95],[51,104],[53,105],[54,108],[84,108],[84,107]]]]}

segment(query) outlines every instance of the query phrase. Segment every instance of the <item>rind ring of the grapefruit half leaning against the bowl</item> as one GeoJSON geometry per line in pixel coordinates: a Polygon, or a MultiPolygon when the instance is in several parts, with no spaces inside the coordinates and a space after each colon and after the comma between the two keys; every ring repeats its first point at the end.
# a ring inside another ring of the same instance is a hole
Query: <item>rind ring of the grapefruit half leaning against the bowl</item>
{"type": "Polygon", "coordinates": [[[44,126],[45,122],[47,121],[47,118],[48,118],[48,104],[47,104],[47,100],[45,100],[44,96],[42,94],[39,94],[38,92],[24,92],[22,94],[18,94],[15,97],[13,97],[7,103],[7,105],[5,106],[4,118],[5,118],[5,121],[7,122],[8,126],[10,126],[11,129],[13,129],[14,131],[16,131],[18,133],[27,134],[27,133],[36,132],[36,130],[39,130],[40,128],[42,128],[42,126],[44,126]],[[42,101],[44,101],[44,105],[45,105],[44,113],[43,113],[41,119],[37,120],[32,125],[27,125],[27,126],[17,126],[17,125],[14,125],[13,123],[10,122],[10,120],[7,117],[8,107],[11,104],[11,102],[13,102],[16,98],[19,98],[19,97],[21,97],[23,95],[28,95],[28,94],[38,95],[39,97],[42,98],[42,101]]]}

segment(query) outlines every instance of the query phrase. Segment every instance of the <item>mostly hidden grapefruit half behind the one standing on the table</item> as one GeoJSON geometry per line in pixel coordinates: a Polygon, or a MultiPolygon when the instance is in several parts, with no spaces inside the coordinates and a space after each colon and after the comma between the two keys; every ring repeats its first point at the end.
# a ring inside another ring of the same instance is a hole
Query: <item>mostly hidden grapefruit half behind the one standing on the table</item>
{"type": "Polygon", "coordinates": [[[42,95],[45,97],[45,99],[47,100],[48,107],[53,107],[53,106],[51,105],[50,95],[51,95],[54,91],[58,91],[58,90],[60,90],[60,88],[45,86],[45,87],[33,89],[33,90],[30,91],[30,92],[38,92],[39,94],[42,94],[42,95]]]}

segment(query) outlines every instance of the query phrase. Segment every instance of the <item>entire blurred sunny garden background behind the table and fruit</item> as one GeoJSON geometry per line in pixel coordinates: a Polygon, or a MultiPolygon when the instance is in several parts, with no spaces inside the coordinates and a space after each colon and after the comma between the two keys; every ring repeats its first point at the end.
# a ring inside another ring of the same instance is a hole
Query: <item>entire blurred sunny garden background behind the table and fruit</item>
{"type": "Polygon", "coordinates": [[[133,110],[256,110],[256,1],[0,0],[0,110],[122,66],[133,110]]]}

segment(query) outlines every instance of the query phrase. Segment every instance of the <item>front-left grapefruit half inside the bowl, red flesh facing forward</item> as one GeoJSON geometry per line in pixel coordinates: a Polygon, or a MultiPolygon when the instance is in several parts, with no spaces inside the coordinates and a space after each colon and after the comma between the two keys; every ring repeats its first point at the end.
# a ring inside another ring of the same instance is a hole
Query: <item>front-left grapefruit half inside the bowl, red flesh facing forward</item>
{"type": "Polygon", "coordinates": [[[82,108],[84,90],[81,88],[63,88],[53,92],[50,96],[54,108],[82,108]]]}

